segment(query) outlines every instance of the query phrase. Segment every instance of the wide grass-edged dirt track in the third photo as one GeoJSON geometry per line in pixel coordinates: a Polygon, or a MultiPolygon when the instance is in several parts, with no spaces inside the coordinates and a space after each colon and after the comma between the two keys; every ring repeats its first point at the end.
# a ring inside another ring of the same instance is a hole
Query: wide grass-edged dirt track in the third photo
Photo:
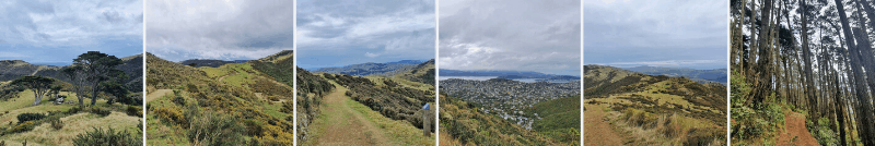
{"type": "Polygon", "coordinates": [[[322,108],[320,117],[327,118],[327,121],[324,123],[317,121],[312,125],[322,129],[316,135],[317,142],[314,145],[397,145],[388,143],[388,137],[380,127],[346,104],[347,100],[351,100],[343,95],[347,88],[334,85],[337,89],[325,96],[323,104],[325,107],[322,108]]]}

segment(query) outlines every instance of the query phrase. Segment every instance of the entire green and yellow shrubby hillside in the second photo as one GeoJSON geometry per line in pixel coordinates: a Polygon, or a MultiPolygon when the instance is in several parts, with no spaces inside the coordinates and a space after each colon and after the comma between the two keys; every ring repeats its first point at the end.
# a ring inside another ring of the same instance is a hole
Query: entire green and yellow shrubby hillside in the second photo
{"type": "Polygon", "coordinates": [[[150,97],[172,90],[148,99],[149,145],[291,145],[292,87],[275,80],[291,77],[252,63],[192,68],[147,57],[150,97]]]}

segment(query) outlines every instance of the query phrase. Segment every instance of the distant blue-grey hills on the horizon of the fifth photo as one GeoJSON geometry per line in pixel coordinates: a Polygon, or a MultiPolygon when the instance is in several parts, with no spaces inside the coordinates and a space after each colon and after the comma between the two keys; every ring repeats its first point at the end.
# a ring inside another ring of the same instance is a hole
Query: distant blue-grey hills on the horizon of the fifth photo
{"type": "MultiPolygon", "coordinates": [[[[718,82],[726,84],[726,69],[714,69],[714,70],[696,70],[689,68],[662,68],[662,66],[635,66],[635,68],[623,68],[629,71],[640,72],[650,75],[666,75],[666,76],[686,76],[689,78],[699,78],[711,82],[718,82]]],[[[701,82],[701,81],[700,81],[701,82]]]]}

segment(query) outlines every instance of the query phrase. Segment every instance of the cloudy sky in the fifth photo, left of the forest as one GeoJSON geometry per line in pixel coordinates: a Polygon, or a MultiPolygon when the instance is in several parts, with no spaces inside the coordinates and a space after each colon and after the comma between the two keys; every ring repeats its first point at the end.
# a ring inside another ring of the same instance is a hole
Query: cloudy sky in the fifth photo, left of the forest
{"type": "Polygon", "coordinates": [[[584,63],[726,68],[727,9],[725,0],[584,0],[584,63]]]}

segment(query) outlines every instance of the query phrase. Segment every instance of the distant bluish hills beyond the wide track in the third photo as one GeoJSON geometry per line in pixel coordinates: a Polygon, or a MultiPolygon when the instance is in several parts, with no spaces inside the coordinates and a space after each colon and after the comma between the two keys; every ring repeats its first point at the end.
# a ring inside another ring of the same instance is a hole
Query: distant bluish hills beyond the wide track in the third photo
{"type": "Polygon", "coordinates": [[[423,61],[401,60],[401,61],[386,62],[386,63],[368,62],[361,64],[347,65],[342,68],[322,68],[312,70],[312,72],[349,74],[355,76],[366,76],[366,75],[392,76],[397,73],[402,73],[409,70],[413,70],[420,63],[423,63],[423,61]]]}

